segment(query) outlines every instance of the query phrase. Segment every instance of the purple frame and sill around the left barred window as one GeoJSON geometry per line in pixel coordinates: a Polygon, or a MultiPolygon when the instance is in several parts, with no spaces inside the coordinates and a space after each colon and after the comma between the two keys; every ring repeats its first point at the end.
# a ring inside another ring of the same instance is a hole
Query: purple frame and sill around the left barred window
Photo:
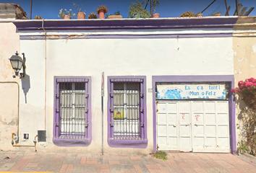
{"type": "Polygon", "coordinates": [[[91,123],[91,77],[90,76],[54,76],[54,137],[53,143],[56,146],[89,146],[92,141],[92,123],[91,123]],[[88,97],[88,112],[85,116],[85,123],[87,121],[87,134],[85,139],[77,138],[59,138],[59,83],[60,82],[85,82],[86,97],[88,97]],[[87,118],[86,118],[87,117],[87,118]]]}

